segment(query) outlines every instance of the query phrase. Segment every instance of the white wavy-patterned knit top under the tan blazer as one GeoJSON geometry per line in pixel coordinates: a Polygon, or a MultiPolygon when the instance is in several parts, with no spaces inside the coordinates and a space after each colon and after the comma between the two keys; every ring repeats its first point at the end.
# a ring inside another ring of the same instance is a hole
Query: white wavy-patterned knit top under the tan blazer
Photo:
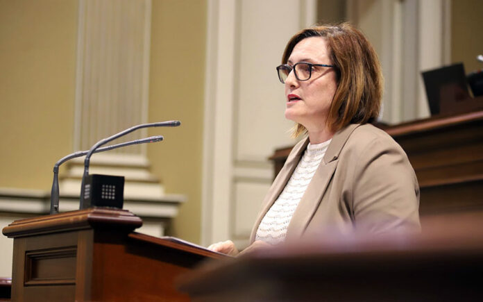
{"type": "Polygon", "coordinates": [[[285,240],[291,217],[329,144],[330,140],[321,144],[307,145],[307,150],[290,176],[289,182],[260,222],[255,240],[262,240],[269,244],[278,244],[285,240]]]}

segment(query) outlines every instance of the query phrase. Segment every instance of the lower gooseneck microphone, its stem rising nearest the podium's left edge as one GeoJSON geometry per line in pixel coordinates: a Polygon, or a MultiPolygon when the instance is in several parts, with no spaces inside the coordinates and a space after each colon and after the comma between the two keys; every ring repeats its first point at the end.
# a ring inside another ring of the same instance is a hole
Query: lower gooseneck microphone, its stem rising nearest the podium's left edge
{"type": "MultiPolygon", "coordinates": [[[[146,137],[141,140],[131,140],[130,142],[121,142],[120,144],[113,144],[112,146],[105,146],[103,148],[99,148],[94,153],[109,151],[112,149],[121,148],[124,146],[130,146],[133,144],[146,144],[149,142],[161,142],[164,139],[162,135],[156,135],[151,137],[146,137]]],[[[68,156],[64,156],[60,158],[56,165],[53,166],[53,181],[52,181],[52,190],[51,190],[51,215],[57,214],[59,212],[59,166],[62,165],[67,160],[71,160],[72,158],[79,158],[80,156],[85,156],[89,151],[77,151],[68,156]]]]}

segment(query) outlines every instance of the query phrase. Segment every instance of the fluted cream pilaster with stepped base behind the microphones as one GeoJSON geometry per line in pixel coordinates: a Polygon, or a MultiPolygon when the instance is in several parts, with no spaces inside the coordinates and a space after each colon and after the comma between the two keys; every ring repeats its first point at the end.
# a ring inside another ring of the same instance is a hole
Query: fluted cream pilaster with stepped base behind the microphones
{"type": "MultiPolygon", "coordinates": [[[[78,18],[74,149],[86,150],[147,122],[151,0],[79,0],[78,18]]],[[[146,137],[143,130],[119,140],[146,137]]],[[[174,217],[185,197],[165,194],[149,171],[145,147],[95,154],[90,173],[124,176],[124,208],[135,214],[174,217]]],[[[83,158],[66,166],[60,181],[61,211],[78,208],[83,158]]],[[[159,221],[153,229],[162,232],[159,221]]]]}

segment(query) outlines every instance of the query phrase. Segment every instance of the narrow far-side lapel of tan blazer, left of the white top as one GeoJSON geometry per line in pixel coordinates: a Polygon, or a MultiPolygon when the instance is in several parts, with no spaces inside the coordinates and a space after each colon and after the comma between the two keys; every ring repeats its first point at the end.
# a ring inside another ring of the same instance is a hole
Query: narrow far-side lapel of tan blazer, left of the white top
{"type": "Polygon", "coordinates": [[[287,182],[290,179],[292,173],[294,173],[295,168],[298,165],[300,157],[302,156],[303,152],[307,148],[307,144],[309,144],[309,138],[305,138],[301,140],[294,146],[289,157],[285,161],[285,165],[282,167],[278,176],[273,181],[273,184],[270,187],[269,192],[266,194],[264,201],[262,202],[262,211],[258,213],[257,220],[255,220],[255,225],[253,226],[251,235],[250,235],[250,242],[255,241],[255,235],[258,230],[258,226],[260,222],[262,222],[263,217],[265,216],[266,212],[269,211],[273,203],[276,201],[282,190],[287,185],[287,182]]]}

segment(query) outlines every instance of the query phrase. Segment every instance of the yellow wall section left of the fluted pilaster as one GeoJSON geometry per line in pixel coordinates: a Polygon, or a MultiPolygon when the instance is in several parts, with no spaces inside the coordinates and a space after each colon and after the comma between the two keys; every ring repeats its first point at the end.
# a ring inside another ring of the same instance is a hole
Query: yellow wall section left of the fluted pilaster
{"type": "Polygon", "coordinates": [[[0,187],[49,190],[71,152],[77,1],[0,0],[0,187]]]}

